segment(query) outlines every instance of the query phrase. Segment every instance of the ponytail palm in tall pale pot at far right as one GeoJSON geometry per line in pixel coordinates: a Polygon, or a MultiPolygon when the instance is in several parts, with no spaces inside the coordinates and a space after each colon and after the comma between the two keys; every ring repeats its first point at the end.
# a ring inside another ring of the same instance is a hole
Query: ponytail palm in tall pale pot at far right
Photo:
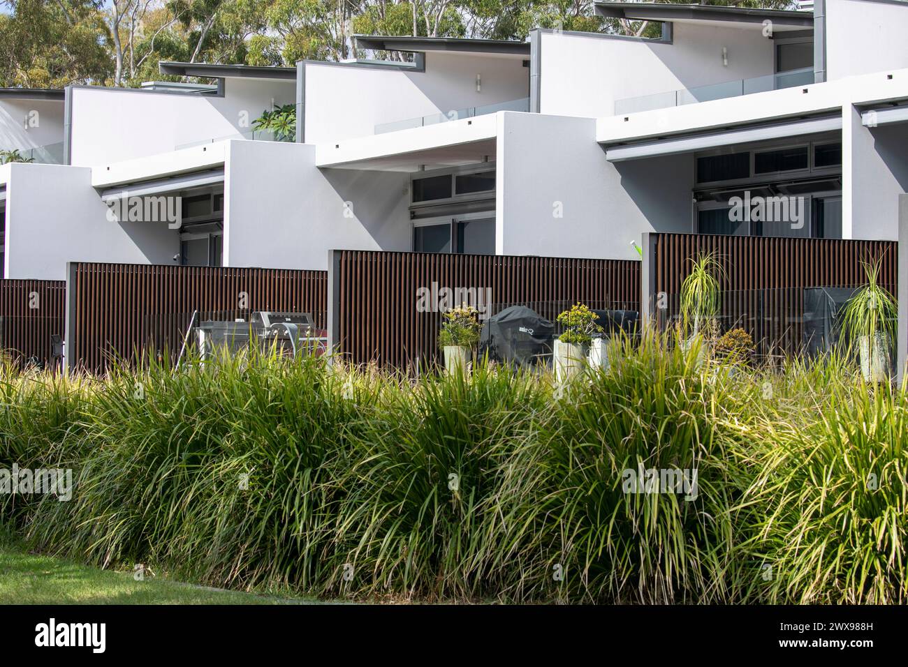
{"type": "Polygon", "coordinates": [[[879,283],[880,262],[864,262],[867,284],[848,299],[842,310],[845,339],[858,349],[865,382],[889,382],[892,364],[889,347],[895,333],[898,306],[879,283]]]}

